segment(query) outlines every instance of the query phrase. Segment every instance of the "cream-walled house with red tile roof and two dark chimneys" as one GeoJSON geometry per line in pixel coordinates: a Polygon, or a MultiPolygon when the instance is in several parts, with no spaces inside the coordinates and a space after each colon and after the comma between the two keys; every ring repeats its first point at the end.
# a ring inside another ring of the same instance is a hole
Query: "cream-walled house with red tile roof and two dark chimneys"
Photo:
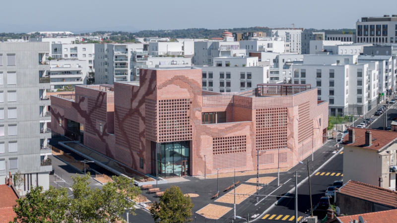
{"type": "Polygon", "coordinates": [[[343,144],[343,181],[396,190],[397,132],[349,128],[343,144]]]}

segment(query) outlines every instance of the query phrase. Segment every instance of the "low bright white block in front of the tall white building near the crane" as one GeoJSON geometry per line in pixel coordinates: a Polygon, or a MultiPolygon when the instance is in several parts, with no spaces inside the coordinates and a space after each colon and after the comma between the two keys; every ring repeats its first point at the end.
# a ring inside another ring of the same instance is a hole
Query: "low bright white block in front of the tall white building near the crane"
{"type": "Polygon", "coordinates": [[[246,55],[249,52],[274,52],[274,53],[285,53],[284,41],[278,40],[279,38],[267,37],[262,38],[262,40],[241,40],[240,49],[246,50],[246,55]]]}

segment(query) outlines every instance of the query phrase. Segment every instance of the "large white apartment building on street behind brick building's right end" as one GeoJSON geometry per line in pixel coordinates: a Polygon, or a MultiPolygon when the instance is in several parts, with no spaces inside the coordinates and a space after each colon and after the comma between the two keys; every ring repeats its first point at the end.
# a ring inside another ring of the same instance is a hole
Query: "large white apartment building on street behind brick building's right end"
{"type": "Polygon", "coordinates": [[[377,105],[379,77],[376,64],[357,61],[357,55],[305,55],[303,64],[292,65],[293,83],[317,87],[330,115],[363,115],[377,105]]]}

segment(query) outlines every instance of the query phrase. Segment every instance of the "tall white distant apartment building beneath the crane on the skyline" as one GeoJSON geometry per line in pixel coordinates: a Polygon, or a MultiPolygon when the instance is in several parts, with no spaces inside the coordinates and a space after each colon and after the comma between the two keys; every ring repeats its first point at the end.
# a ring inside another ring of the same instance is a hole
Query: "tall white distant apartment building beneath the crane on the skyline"
{"type": "Polygon", "coordinates": [[[302,52],[302,29],[272,29],[272,37],[280,37],[289,45],[289,52],[285,53],[298,53],[302,52]]]}

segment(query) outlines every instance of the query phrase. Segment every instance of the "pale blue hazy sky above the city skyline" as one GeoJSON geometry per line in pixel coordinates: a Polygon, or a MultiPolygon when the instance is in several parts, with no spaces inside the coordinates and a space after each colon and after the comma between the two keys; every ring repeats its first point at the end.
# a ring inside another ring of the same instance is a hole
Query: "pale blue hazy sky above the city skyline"
{"type": "Polygon", "coordinates": [[[1,32],[186,28],[355,28],[397,0],[1,0],[1,32]]]}

